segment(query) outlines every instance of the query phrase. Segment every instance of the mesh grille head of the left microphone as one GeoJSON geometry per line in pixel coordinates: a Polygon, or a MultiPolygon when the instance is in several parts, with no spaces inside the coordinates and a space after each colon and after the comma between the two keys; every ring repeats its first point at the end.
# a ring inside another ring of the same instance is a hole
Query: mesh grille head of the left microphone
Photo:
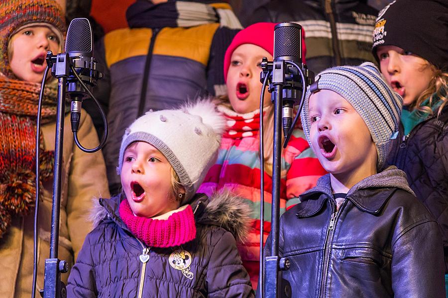
{"type": "Polygon", "coordinates": [[[74,18],[67,30],[65,52],[92,52],[93,33],[86,18],[74,18]]]}

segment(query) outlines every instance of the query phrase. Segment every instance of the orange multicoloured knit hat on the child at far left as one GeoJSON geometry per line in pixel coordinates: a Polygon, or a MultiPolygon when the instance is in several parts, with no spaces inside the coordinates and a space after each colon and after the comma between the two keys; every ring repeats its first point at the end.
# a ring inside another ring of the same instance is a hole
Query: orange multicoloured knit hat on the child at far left
{"type": "Polygon", "coordinates": [[[9,67],[8,43],[12,35],[31,24],[48,26],[63,43],[65,15],[55,0],[7,0],[0,2],[0,73],[16,78],[9,67]]]}

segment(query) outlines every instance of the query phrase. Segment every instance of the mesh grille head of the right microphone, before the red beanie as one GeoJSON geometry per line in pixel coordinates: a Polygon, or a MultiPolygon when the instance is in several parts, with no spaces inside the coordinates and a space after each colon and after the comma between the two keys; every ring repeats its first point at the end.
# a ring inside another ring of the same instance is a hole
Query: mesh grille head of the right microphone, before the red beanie
{"type": "MultiPolygon", "coordinates": [[[[296,23],[280,23],[274,28],[274,59],[278,57],[302,58],[302,26],[296,23]]],[[[291,58],[289,58],[291,59],[291,58]]]]}

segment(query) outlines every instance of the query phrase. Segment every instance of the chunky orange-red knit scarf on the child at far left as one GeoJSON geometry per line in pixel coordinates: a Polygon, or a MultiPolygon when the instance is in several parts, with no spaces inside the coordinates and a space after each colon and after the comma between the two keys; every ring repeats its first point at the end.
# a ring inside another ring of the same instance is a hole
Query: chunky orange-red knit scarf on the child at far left
{"type": "MultiPolygon", "coordinates": [[[[0,238],[11,216],[30,214],[34,208],[35,135],[40,84],[0,77],[0,238]]],[[[42,103],[42,123],[54,121],[57,89],[47,86],[42,103]]],[[[42,180],[53,174],[53,151],[41,142],[42,180]]]]}

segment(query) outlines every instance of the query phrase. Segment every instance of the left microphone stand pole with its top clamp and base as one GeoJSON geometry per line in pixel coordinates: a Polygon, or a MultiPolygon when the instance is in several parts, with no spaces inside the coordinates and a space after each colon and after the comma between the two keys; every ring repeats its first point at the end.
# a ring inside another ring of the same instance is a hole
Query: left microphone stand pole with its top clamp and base
{"type": "Polygon", "coordinates": [[[40,295],[44,298],[66,298],[67,290],[61,281],[61,273],[68,271],[68,263],[58,259],[59,243],[59,211],[61,206],[61,181],[62,181],[62,147],[64,142],[64,117],[65,95],[67,77],[70,74],[70,56],[68,53],[53,56],[47,53],[47,65],[51,67],[51,73],[58,79],[57,113],[56,113],[56,137],[54,147],[54,171],[53,171],[53,202],[51,207],[51,237],[50,258],[45,260],[44,290],[40,295]]]}

